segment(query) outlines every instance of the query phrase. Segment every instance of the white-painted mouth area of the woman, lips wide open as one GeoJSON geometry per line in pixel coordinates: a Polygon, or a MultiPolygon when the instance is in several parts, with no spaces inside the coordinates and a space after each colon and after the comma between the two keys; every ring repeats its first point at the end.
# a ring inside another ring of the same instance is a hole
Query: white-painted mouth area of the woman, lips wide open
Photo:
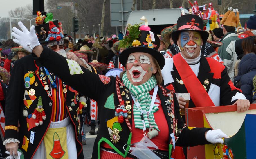
{"type": "Polygon", "coordinates": [[[128,69],[131,78],[134,83],[141,82],[147,71],[145,71],[141,66],[133,66],[131,69],[128,69]]]}

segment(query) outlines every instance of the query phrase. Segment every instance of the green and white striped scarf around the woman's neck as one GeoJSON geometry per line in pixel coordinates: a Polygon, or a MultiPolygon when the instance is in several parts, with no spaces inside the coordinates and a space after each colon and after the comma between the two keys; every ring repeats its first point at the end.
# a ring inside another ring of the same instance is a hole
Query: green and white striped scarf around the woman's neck
{"type": "MultiPolygon", "coordinates": [[[[134,86],[127,78],[127,74],[123,74],[123,84],[129,89],[129,91],[134,95],[134,97],[140,103],[140,107],[143,111],[148,112],[151,104],[151,97],[149,95],[149,91],[151,91],[156,86],[156,77],[153,75],[147,82],[142,85],[134,86]]],[[[153,106],[152,111],[149,113],[149,121],[153,128],[160,131],[156,125],[154,113],[158,111],[157,106],[153,106]]],[[[147,114],[143,113],[144,121],[146,128],[149,128],[149,121],[147,118],[147,114]]],[[[140,110],[133,104],[133,118],[135,123],[135,128],[143,129],[142,120],[140,117],[140,110]]]]}

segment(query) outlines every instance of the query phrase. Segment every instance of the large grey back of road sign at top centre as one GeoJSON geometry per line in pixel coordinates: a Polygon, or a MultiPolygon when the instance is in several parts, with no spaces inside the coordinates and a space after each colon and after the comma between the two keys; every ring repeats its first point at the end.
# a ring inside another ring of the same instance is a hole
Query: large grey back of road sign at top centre
{"type": "Polygon", "coordinates": [[[132,6],[133,6],[133,0],[110,0],[111,27],[122,26],[122,24],[125,26],[127,19],[130,13],[132,12],[132,9],[131,9],[132,6]],[[123,15],[123,18],[122,18],[122,15],[123,15]],[[123,19],[123,23],[122,23],[122,19],[123,19]]]}

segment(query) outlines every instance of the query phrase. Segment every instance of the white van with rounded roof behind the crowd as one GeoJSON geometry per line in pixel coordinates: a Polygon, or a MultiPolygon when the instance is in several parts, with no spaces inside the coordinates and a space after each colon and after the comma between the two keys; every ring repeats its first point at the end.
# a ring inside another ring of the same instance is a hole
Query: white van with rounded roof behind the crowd
{"type": "Polygon", "coordinates": [[[161,30],[165,27],[169,27],[177,23],[178,18],[181,16],[181,10],[188,13],[188,10],[183,8],[132,11],[126,24],[134,25],[135,23],[139,24],[143,22],[141,25],[144,25],[144,21],[140,20],[140,18],[145,16],[151,31],[155,34],[160,34],[161,30]]]}

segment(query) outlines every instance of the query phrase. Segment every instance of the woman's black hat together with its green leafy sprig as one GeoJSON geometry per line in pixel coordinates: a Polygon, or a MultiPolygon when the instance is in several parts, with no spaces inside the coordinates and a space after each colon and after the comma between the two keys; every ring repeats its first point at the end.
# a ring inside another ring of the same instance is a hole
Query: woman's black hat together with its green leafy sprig
{"type": "Polygon", "coordinates": [[[123,66],[126,66],[127,59],[131,53],[143,52],[152,55],[158,62],[160,68],[162,69],[165,64],[165,59],[163,55],[158,52],[160,46],[160,40],[158,36],[149,31],[139,31],[140,24],[135,24],[133,26],[128,25],[127,30],[129,35],[123,40],[120,40],[119,48],[127,48],[119,55],[119,61],[123,66]],[[132,46],[133,41],[138,41],[140,46],[132,46]]]}

